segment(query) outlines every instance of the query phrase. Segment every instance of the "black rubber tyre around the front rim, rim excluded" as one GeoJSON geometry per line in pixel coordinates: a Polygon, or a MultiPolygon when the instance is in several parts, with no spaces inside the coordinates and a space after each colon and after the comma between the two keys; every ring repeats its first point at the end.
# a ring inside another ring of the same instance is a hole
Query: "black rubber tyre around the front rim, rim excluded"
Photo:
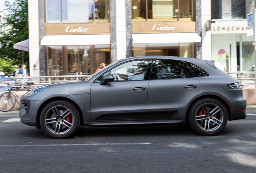
{"type": "Polygon", "coordinates": [[[79,116],[78,111],[76,110],[76,107],[72,103],[70,103],[68,101],[62,101],[62,100],[52,101],[52,102],[48,103],[43,108],[41,115],[40,115],[40,125],[41,125],[43,132],[46,135],[48,135],[52,138],[55,138],[55,139],[65,139],[65,138],[68,138],[68,137],[74,135],[74,133],[76,133],[76,131],[80,125],[80,116],[79,116]],[[47,113],[47,111],[49,109],[51,109],[52,107],[57,106],[57,105],[67,107],[68,109],[70,109],[70,111],[74,115],[74,125],[72,126],[70,131],[68,131],[67,133],[65,133],[63,135],[58,135],[58,134],[54,134],[54,133],[50,132],[45,125],[45,114],[47,113]]]}

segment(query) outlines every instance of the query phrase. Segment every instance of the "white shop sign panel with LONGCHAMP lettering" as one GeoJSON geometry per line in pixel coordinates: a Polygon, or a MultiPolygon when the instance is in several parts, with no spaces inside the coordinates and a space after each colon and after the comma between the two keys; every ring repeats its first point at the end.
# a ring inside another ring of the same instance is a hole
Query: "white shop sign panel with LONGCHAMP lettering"
{"type": "Polygon", "coordinates": [[[214,23],[211,24],[212,34],[246,34],[247,23],[214,23]]]}

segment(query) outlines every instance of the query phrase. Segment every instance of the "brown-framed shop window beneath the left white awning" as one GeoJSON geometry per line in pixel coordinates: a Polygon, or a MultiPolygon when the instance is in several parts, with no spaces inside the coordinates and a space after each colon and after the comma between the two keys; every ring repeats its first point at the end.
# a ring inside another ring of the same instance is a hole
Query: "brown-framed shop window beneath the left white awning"
{"type": "Polygon", "coordinates": [[[110,45],[46,46],[46,75],[91,75],[111,63],[110,45]]]}

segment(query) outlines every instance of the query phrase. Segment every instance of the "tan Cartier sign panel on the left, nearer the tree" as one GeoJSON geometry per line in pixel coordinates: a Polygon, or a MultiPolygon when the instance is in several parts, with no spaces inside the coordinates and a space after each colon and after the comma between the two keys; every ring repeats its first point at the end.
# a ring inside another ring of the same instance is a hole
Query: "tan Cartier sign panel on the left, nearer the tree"
{"type": "Polygon", "coordinates": [[[110,23],[45,24],[45,35],[110,34],[110,23]]]}

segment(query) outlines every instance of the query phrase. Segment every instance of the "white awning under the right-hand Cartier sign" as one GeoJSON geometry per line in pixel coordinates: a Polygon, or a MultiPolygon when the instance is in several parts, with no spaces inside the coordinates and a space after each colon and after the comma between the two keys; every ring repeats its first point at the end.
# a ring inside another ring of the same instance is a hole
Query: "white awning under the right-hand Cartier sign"
{"type": "Polygon", "coordinates": [[[132,34],[132,43],[184,43],[201,42],[196,33],[132,34]]]}

